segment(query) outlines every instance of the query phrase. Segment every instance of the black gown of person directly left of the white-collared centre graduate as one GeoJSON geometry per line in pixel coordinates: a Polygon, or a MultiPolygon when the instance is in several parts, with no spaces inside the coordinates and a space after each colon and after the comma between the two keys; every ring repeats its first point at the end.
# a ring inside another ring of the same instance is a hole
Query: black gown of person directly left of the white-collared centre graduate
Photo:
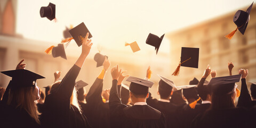
{"type": "Polygon", "coordinates": [[[110,127],[109,105],[101,98],[103,79],[95,79],[86,95],[86,105],[84,111],[92,127],[110,127]]]}

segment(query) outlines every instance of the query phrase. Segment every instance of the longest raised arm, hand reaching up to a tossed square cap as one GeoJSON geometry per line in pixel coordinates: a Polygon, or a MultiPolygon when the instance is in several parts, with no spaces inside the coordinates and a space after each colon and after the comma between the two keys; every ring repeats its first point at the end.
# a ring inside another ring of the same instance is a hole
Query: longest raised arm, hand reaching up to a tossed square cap
{"type": "Polygon", "coordinates": [[[88,40],[89,33],[86,34],[84,40],[82,41],[82,53],[77,59],[75,65],[68,71],[65,77],[62,79],[56,93],[61,99],[70,99],[73,89],[75,86],[76,78],[81,70],[84,61],[87,55],[90,53],[91,50],[91,39],[88,40]]]}

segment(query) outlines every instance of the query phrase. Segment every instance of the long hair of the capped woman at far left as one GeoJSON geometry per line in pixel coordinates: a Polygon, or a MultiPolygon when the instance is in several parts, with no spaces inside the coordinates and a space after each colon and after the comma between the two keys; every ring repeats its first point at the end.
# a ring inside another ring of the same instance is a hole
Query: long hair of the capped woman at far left
{"type": "Polygon", "coordinates": [[[21,87],[20,89],[10,89],[7,105],[15,108],[24,109],[30,117],[35,119],[37,124],[40,124],[38,116],[40,113],[37,110],[35,103],[35,87],[21,87]]]}

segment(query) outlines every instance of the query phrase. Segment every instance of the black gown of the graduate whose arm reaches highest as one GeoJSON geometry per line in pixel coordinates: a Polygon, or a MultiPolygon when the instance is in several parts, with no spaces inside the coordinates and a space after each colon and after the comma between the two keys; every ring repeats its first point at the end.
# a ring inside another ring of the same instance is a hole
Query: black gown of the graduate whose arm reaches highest
{"type": "Polygon", "coordinates": [[[70,97],[80,69],[74,65],[62,79],[57,91],[46,96],[42,115],[44,127],[90,127],[84,114],[70,105],[70,97]]]}

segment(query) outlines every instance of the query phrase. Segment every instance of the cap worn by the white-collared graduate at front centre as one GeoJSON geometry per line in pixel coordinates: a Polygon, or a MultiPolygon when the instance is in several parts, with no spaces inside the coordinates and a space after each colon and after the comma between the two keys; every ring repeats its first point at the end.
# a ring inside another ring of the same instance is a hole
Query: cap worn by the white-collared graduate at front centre
{"type": "Polygon", "coordinates": [[[134,94],[147,94],[148,88],[153,86],[153,82],[145,79],[130,76],[126,81],[131,82],[129,90],[134,94]]]}

